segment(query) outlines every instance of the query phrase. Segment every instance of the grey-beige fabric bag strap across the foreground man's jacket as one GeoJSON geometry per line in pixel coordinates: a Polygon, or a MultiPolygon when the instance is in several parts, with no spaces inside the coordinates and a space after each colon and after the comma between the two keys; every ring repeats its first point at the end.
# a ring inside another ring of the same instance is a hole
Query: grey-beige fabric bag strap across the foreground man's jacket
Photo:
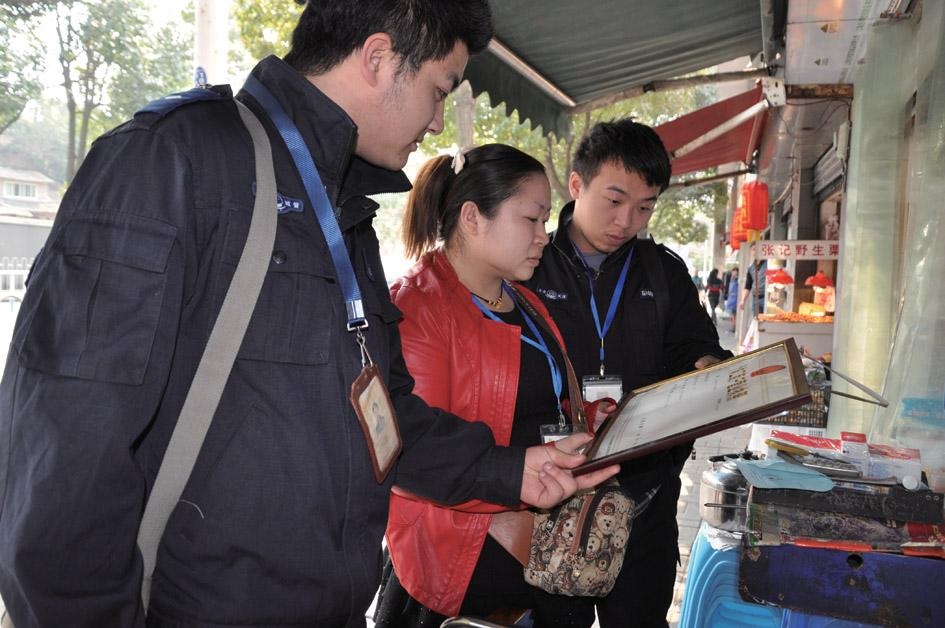
{"type": "Polygon", "coordinates": [[[239,264],[190,384],[138,529],[138,548],[144,561],[141,601],[145,612],[151,597],[151,577],[164,527],[190,478],[229,379],[230,369],[266,278],[276,237],[277,216],[273,210],[277,194],[276,176],[269,138],[256,116],[239,101],[234,102],[253,140],[256,201],[239,264]]]}

